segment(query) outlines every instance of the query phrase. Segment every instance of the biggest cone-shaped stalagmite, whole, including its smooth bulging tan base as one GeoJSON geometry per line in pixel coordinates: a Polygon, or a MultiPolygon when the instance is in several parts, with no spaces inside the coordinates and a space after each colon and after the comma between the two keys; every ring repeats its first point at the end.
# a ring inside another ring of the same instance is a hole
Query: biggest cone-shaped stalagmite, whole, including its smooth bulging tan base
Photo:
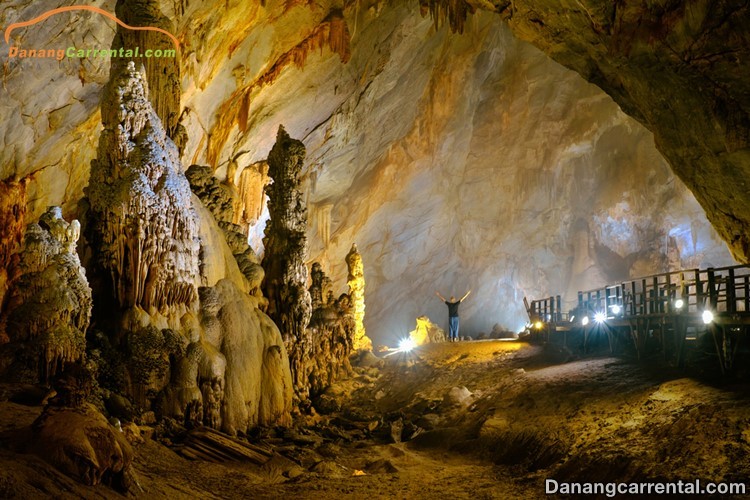
{"type": "MultiPolygon", "coordinates": [[[[102,119],[87,234],[105,292],[95,313],[112,332],[97,337],[110,353],[111,389],[144,410],[230,433],[289,424],[279,331],[249,294],[257,283],[241,274],[220,221],[191,194],[133,63],[113,74],[102,119]]],[[[222,219],[231,200],[195,172],[222,219]]]]}

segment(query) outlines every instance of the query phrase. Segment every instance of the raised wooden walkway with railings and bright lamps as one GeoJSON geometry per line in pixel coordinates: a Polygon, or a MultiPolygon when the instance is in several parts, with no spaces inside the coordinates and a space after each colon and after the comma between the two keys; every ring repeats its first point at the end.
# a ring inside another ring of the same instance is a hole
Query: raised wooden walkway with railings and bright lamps
{"type": "Polygon", "coordinates": [[[655,274],[578,292],[576,307],[567,312],[559,295],[524,303],[533,337],[545,342],[586,352],[593,340],[606,338],[613,354],[660,354],[684,366],[687,349],[710,335],[726,372],[750,329],[750,266],[655,274]]]}

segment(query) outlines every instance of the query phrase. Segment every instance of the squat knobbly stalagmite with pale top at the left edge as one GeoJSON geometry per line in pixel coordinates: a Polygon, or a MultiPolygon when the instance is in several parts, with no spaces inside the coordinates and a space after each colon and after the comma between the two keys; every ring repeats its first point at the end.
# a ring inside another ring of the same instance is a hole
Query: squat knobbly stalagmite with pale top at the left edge
{"type": "Polygon", "coordinates": [[[29,224],[20,249],[20,276],[8,292],[5,323],[9,343],[0,373],[48,384],[81,361],[91,319],[91,289],[76,253],[81,226],[50,207],[29,224]],[[9,370],[8,370],[9,369],[9,370]]]}

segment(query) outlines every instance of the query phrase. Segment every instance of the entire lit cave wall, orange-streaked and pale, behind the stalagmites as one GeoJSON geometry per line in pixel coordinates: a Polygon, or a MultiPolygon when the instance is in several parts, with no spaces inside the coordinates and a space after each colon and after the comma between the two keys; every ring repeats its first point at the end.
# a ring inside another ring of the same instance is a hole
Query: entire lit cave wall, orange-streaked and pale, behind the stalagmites
{"type": "MultiPolygon", "coordinates": [[[[474,289],[462,331],[478,333],[496,322],[518,328],[524,295],[569,297],[632,275],[731,262],[654,136],[514,38],[507,16],[478,12],[453,35],[436,30],[417,2],[159,6],[182,43],[182,164],[209,165],[237,186],[284,123],[308,152],[310,261],[343,285],[344,256],[358,244],[365,326],[376,344],[405,336],[423,314],[442,324],[436,288],[474,289]]],[[[44,9],[17,0],[0,7],[0,18],[44,9]]],[[[13,38],[109,46],[111,23],[77,16],[13,38]]],[[[106,59],[6,66],[0,177],[29,177],[28,220],[50,204],[78,215],[107,69],[106,59]]],[[[251,228],[256,240],[265,218],[251,228]]]]}

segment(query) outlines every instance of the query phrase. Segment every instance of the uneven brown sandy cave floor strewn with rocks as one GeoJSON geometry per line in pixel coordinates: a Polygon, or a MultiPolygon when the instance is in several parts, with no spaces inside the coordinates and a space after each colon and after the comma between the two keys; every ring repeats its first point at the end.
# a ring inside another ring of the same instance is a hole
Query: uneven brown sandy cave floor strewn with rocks
{"type": "MultiPolygon", "coordinates": [[[[750,483],[748,384],[619,358],[563,361],[497,340],[396,354],[356,368],[303,427],[257,437],[276,451],[265,465],[191,461],[145,440],[127,496],[506,499],[548,498],[551,477],[750,483]]],[[[41,407],[5,399],[1,498],[123,496],[7,449],[41,407]]]]}

